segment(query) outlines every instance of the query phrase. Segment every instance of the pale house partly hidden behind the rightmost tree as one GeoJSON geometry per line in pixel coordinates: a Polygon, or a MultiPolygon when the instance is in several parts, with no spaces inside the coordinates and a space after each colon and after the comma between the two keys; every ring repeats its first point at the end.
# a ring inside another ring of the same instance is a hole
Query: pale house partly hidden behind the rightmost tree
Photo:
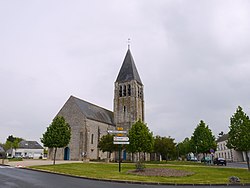
{"type": "Polygon", "coordinates": [[[217,139],[217,150],[215,151],[215,157],[225,158],[231,162],[244,161],[243,153],[227,147],[228,134],[224,134],[217,139]]]}

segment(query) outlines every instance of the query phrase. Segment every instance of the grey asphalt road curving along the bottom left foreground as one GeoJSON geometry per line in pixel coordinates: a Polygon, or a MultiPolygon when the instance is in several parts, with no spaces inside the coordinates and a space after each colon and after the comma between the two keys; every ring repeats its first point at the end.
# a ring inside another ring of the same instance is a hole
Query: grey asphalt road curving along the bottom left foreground
{"type": "MultiPolygon", "coordinates": [[[[95,181],[57,174],[0,166],[0,188],[170,188],[172,185],[143,185],[95,181]]],[[[177,186],[191,188],[193,186],[177,186]]],[[[213,186],[195,186],[213,187],[213,186]]],[[[219,186],[220,188],[228,186],[219,186]]],[[[230,186],[241,187],[241,186],[230,186]]]]}

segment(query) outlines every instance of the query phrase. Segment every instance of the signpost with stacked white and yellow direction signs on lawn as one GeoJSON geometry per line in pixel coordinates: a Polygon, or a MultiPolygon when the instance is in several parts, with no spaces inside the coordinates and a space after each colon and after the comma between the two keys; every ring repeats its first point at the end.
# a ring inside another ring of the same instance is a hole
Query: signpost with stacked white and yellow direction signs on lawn
{"type": "Polygon", "coordinates": [[[117,127],[117,130],[108,130],[108,133],[116,134],[113,144],[119,145],[119,172],[121,172],[121,145],[129,144],[129,138],[124,136],[124,134],[127,134],[127,131],[124,131],[122,127],[117,127]]]}

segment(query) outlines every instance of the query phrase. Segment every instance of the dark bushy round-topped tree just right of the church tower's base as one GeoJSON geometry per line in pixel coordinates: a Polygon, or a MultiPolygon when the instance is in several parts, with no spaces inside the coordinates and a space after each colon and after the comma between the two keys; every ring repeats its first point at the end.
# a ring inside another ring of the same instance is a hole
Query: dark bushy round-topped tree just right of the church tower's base
{"type": "Polygon", "coordinates": [[[156,136],[154,138],[154,152],[162,156],[166,161],[170,158],[175,158],[176,156],[176,143],[171,137],[161,137],[156,136]]]}

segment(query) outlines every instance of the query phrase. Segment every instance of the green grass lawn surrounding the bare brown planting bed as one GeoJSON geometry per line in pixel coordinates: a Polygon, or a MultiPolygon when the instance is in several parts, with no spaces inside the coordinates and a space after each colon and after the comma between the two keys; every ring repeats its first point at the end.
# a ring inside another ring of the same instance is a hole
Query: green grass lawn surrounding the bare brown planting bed
{"type": "Polygon", "coordinates": [[[193,172],[193,175],[185,177],[152,177],[128,174],[129,170],[135,169],[132,163],[122,163],[121,172],[118,172],[116,163],[72,163],[48,166],[34,166],[33,169],[59,172],[76,176],[112,179],[123,181],[142,181],[178,184],[228,184],[230,176],[237,176],[241,183],[250,183],[250,172],[246,169],[224,168],[217,166],[193,165],[192,163],[181,164],[146,164],[146,168],[173,168],[193,172]]]}

